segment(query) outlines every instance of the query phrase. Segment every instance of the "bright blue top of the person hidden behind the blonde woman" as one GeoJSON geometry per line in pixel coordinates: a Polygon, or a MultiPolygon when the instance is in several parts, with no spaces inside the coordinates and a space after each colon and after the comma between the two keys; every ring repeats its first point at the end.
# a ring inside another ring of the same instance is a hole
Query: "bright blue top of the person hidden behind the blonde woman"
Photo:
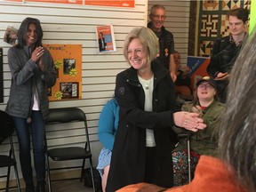
{"type": "Polygon", "coordinates": [[[119,121],[119,106],[116,99],[108,100],[102,108],[99,119],[99,140],[105,148],[113,149],[119,121]]]}

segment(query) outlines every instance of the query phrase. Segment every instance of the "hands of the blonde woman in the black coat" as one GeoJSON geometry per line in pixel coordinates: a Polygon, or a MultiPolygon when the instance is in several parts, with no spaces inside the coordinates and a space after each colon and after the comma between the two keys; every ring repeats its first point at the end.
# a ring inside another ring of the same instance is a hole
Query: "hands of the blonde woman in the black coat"
{"type": "Polygon", "coordinates": [[[173,120],[176,126],[183,127],[192,132],[203,130],[206,127],[204,120],[197,113],[186,111],[175,112],[173,113],[173,120]]]}

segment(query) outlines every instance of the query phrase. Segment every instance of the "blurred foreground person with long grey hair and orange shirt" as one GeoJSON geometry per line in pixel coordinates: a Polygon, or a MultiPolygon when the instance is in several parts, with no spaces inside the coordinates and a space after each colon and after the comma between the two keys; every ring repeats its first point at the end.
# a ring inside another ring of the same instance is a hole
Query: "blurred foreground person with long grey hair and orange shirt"
{"type": "Polygon", "coordinates": [[[256,191],[256,28],[245,41],[228,84],[228,100],[220,126],[220,159],[201,156],[188,185],[161,188],[138,183],[118,192],[255,192],[256,191]]]}

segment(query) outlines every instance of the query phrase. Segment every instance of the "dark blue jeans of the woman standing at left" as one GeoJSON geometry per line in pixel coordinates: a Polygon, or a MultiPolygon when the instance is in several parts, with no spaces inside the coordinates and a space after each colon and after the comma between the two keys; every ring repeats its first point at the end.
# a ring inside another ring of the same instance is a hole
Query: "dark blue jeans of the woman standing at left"
{"type": "Polygon", "coordinates": [[[44,180],[45,156],[44,156],[44,118],[41,111],[32,111],[31,123],[26,118],[12,116],[20,146],[20,166],[23,179],[27,185],[33,183],[33,171],[30,156],[29,127],[31,127],[34,164],[36,168],[36,180],[44,180]]]}

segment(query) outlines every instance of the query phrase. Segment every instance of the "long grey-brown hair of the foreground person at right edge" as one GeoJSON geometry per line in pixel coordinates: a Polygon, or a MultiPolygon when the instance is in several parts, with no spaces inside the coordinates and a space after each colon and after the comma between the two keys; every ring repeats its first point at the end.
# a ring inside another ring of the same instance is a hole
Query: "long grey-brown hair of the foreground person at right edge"
{"type": "Polygon", "coordinates": [[[248,191],[256,191],[256,28],[252,31],[231,71],[220,129],[221,157],[248,191]]]}

